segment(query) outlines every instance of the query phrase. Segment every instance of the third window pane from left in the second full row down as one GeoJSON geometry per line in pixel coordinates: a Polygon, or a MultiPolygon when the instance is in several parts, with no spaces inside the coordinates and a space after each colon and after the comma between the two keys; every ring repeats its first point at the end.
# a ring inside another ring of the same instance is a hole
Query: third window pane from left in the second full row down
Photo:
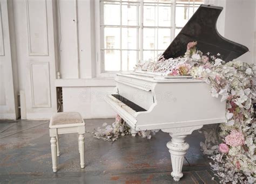
{"type": "Polygon", "coordinates": [[[155,35],[157,29],[144,28],[143,29],[143,49],[157,49],[155,35]]]}

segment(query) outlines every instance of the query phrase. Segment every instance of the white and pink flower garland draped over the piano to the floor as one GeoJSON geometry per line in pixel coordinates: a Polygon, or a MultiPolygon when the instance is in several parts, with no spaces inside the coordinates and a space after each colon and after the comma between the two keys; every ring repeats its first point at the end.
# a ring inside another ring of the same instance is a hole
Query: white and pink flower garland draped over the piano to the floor
{"type": "Polygon", "coordinates": [[[227,123],[218,129],[204,130],[205,143],[200,143],[204,154],[211,155],[210,163],[221,182],[256,182],[256,123],[252,104],[255,98],[253,65],[241,61],[225,63],[221,55],[203,53],[197,42],[187,44],[183,57],[158,61],[140,61],[135,70],[163,75],[191,75],[211,86],[211,95],[227,102],[227,123]],[[214,132],[217,130],[217,132],[214,132]]]}

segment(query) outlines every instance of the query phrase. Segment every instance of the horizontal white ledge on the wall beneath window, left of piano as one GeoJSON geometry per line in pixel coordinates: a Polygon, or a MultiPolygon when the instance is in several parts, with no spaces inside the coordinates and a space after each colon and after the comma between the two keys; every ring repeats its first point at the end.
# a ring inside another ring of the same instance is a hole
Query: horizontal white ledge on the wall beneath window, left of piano
{"type": "Polygon", "coordinates": [[[116,86],[113,77],[97,77],[92,79],[56,79],[56,87],[100,87],[100,86],[116,86]]]}

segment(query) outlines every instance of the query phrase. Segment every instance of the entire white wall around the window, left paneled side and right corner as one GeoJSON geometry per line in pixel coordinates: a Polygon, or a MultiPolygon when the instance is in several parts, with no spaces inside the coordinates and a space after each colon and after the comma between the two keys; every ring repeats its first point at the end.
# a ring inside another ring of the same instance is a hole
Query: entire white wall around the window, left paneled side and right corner
{"type": "MultiPolygon", "coordinates": [[[[96,1],[0,2],[0,118],[18,117],[19,90],[25,94],[24,118],[49,118],[57,111],[56,87],[63,87],[64,111],[78,111],[84,118],[114,117],[103,101],[114,88],[113,78],[96,75],[96,1]]],[[[205,2],[224,6],[220,34],[247,46],[250,53],[241,60],[255,62],[255,1],[205,2]]]]}

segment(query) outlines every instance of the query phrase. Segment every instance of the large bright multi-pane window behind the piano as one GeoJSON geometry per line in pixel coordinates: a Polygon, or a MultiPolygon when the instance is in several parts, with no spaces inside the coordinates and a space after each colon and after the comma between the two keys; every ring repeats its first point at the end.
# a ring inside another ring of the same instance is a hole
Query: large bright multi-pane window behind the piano
{"type": "Polygon", "coordinates": [[[100,73],[128,71],[170,45],[203,0],[99,0],[100,73]]]}

